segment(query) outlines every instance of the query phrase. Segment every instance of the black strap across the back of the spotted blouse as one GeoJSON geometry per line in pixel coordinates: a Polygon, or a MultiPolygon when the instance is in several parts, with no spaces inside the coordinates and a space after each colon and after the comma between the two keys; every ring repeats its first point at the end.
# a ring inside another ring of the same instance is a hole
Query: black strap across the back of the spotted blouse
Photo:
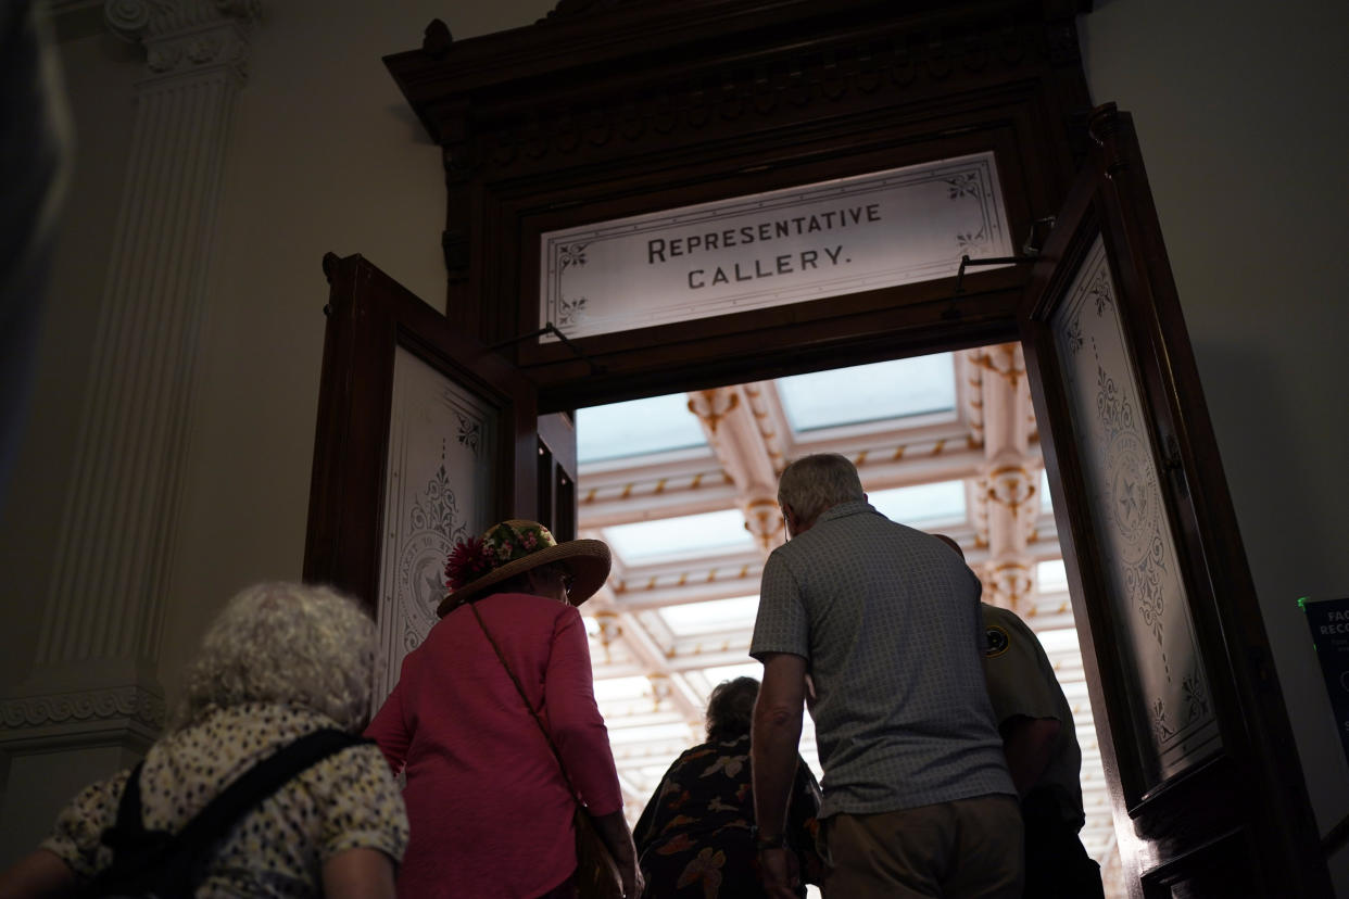
{"type": "Polygon", "coordinates": [[[146,830],[140,807],[142,762],[131,772],[117,803],[117,822],[103,834],[113,850],[112,867],[100,875],[107,890],[138,892],[154,880],[166,895],[190,895],[216,842],[248,810],[277,793],[290,779],[328,756],[362,743],[372,743],[335,728],[308,733],[263,759],[206,803],[177,834],[146,830]],[[147,869],[156,868],[156,869],[147,869]]]}

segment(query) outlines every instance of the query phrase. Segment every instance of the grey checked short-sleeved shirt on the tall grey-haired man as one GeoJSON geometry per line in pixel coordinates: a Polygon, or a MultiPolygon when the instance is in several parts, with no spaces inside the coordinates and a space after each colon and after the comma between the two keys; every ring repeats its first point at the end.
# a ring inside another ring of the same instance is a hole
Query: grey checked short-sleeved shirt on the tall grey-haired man
{"type": "Polygon", "coordinates": [[[983,681],[979,580],[935,536],[842,503],[764,566],[750,655],[815,682],[820,817],[1014,797],[983,681]]]}

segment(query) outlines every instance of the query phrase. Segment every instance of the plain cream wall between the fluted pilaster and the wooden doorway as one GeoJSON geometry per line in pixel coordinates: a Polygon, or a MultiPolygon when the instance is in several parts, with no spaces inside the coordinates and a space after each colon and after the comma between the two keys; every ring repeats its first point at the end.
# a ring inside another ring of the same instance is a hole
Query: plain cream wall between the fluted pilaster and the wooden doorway
{"type": "Polygon", "coordinates": [[[263,578],[298,578],[309,511],[328,283],[321,259],[362,253],[444,306],[441,155],[382,57],[527,24],[548,4],[266,4],[225,173],[201,388],[161,681],[214,611],[263,578]]]}

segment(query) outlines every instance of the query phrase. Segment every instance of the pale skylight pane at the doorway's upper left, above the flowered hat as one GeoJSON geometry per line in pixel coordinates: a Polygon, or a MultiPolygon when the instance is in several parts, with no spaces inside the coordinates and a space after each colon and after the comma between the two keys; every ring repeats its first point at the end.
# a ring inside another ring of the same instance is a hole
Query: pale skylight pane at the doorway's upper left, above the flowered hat
{"type": "Polygon", "coordinates": [[[687,394],[668,394],[626,403],[576,410],[576,460],[646,456],[706,446],[697,416],[688,411],[687,394]]]}

